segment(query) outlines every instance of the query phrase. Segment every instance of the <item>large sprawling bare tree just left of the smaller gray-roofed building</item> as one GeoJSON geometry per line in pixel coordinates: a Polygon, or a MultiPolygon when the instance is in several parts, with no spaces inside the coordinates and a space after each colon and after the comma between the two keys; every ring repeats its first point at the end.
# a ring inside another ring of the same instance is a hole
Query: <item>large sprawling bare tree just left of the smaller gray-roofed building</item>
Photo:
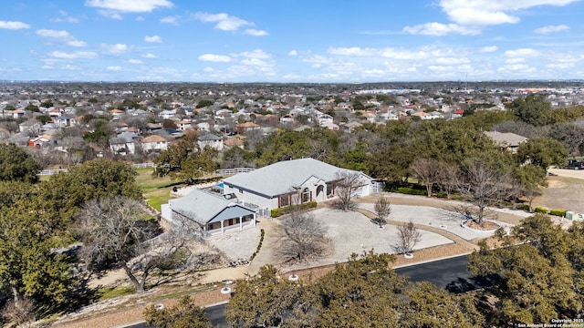
{"type": "Polygon", "coordinates": [[[170,235],[153,239],[161,229],[150,218],[139,200],[126,197],[90,200],[85,204],[78,217],[77,231],[84,242],[81,255],[89,270],[121,268],[136,292],[144,292],[151,271],[169,266],[183,246],[170,235]]]}

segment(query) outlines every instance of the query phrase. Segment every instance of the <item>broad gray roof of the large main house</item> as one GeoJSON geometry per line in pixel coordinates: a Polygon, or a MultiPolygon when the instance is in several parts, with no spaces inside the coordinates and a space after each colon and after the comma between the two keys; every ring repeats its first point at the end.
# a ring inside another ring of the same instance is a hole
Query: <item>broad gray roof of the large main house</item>
{"type": "MultiPolygon", "coordinates": [[[[255,169],[252,172],[236,174],[224,179],[224,183],[275,197],[290,192],[292,187],[302,185],[312,176],[325,182],[334,181],[337,172],[341,171],[356,172],[340,169],[317,159],[292,159],[255,169]]],[[[364,174],[363,176],[367,177],[364,174]]]]}

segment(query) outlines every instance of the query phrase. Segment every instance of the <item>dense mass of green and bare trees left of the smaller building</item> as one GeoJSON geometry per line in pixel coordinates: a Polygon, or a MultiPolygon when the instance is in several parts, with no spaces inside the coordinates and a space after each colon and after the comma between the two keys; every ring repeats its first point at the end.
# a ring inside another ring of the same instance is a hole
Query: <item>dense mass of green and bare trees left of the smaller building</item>
{"type": "Polygon", "coordinates": [[[141,292],[149,272],[175,268],[188,257],[180,239],[151,241],[162,230],[144,209],[129,164],[95,159],[40,181],[40,166],[26,150],[0,144],[0,161],[5,323],[26,323],[92,302],[97,291],[87,282],[93,272],[124,269],[141,292]]]}

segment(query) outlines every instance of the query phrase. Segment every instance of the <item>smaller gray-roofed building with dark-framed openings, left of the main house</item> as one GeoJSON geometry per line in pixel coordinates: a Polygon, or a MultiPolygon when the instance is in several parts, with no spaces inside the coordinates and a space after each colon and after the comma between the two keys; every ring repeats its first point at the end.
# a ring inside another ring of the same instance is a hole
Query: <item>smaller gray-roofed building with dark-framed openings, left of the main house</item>
{"type": "Polygon", "coordinates": [[[162,204],[162,218],[180,228],[194,223],[203,237],[255,227],[255,211],[219,194],[194,189],[185,196],[162,204]]]}

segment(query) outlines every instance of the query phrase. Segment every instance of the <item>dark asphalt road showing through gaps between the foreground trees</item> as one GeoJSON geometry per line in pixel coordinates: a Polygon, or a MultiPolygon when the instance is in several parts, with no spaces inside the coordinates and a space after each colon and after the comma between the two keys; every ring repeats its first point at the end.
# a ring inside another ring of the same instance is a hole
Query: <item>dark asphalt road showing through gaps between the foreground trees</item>
{"type": "MultiPolygon", "coordinates": [[[[468,292],[492,284],[491,279],[475,279],[468,272],[466,255],[441,261],[431,261],[422,264],[398,268],[396,273],[408,277],[411,282],[432,282],[439,288],[449,292],[468,292]]],[[[219,327],[228,327],[224,318],[225,304],[207,308],[211,323],[219,327]]],[[[131,328],[146,328],[144,323],[128,326],[131,328]]]]}

